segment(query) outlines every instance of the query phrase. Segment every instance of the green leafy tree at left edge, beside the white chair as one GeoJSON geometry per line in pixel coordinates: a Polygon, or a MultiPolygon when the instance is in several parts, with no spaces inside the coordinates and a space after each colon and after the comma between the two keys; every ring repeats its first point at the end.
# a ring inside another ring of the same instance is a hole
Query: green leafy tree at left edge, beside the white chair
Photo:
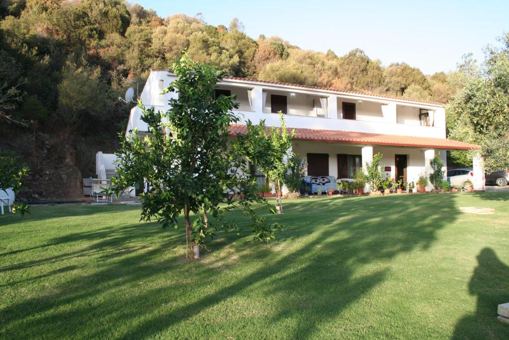
{"type": "MultiPolygon", "coordinates": [[[[21,180],[29,173],[29,168],[24,166],[13,152],[0,151],[0,190],[11,189],[14,194],[21,188],[21,180]]],[[[12,212],[19,211],[21,215],[30,213],[28,205],[14,202],[12,212]]]]}

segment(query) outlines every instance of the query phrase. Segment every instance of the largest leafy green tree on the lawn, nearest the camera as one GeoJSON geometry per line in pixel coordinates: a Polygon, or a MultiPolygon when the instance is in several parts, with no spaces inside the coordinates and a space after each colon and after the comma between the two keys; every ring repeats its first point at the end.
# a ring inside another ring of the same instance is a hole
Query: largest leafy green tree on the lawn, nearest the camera
{"type": "Polygon", "coordinates": [[[267,223],[253,210],[254,203],[267,202],[255,194],[258,183],[246,162],[250,158],[267,163],[270,145],[253,129],[233,141],[229,138],[230,124],[239,121],[232,111],[238,104],[234,96],[215,97],[214,85],[221,75],[214,69],[183,55],[173,70],[177,80],[163,91],[179,94],[169,100],[171,109],[161,113],[139,103],[149,134],[142,137],[134,130],[132,137],[121,137],[113,183],[117,194],[148,182],[148,192],[141,194],[141,219],[156,218],[163,227],[178,228],[183,213],[186,255],[216,229],[238,230],[235,221],[224,219],[224,213],[236,207],[250,218],[255,240],[274,238],[274,229],[281,226],[267,223]]]}

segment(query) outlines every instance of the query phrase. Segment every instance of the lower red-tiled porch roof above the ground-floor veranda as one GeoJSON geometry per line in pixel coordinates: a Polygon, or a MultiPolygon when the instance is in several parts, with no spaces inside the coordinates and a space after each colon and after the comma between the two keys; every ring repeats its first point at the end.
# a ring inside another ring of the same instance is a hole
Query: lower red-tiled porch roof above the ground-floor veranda
{"type": "MultiPolygon", "coordinates": [[[[293,128],[288,128],[289,130],[293,128]]],[[[409,146],[433,149],[470,150],[478,148],[478,145],[459,142],[446,138],[412,137],[397,135],[382,135],[363,132],[322,130],[311,128],[294,128],[296,141],[322,142],[322,143],[345,143],[367,144],[388,146],[409,146]]],[[[246,125],[231,125],[232,137],[237,134],[247,133],[246,125]]]]}

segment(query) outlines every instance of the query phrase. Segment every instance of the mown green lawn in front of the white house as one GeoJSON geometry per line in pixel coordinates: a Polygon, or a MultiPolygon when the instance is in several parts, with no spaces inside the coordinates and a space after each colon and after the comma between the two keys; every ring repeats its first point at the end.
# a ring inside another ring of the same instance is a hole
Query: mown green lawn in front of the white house
{"type": "Polygon", "coordinates": [[[0,216],[0,338],[507,338],[508,200],[287,200],[276,241],[199,261],[139,206],[35,206],[0,216]]]}

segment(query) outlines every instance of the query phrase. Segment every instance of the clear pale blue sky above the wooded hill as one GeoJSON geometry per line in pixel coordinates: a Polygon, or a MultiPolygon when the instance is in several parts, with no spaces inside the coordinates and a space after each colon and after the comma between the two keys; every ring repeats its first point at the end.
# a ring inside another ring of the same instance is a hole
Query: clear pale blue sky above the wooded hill
{"type": "Polygon", "coordinates": [[[505,1],[133,1],[161,17],[202,13],[212,25],[238,17],[245,33],[277,35],[302,49],[338,56],[361,48],[383,65],[406,62],[424,73],[456,68],[465,53],[480,62],[483,48],[509,31],[505,1]]]}

